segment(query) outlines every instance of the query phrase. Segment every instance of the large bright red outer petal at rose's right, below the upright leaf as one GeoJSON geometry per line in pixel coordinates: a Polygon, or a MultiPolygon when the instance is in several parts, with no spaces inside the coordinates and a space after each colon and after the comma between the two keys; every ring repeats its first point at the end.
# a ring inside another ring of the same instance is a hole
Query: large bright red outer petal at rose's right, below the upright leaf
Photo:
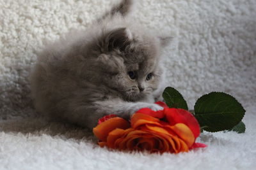
{"type": "Polygon", "coordinates": [[[170,125],[185,124],[191,129],[195,138],[200,134],[200,126],[196,118],[187,110],[176,108],[164,108],[164,113],[170,125]]]}

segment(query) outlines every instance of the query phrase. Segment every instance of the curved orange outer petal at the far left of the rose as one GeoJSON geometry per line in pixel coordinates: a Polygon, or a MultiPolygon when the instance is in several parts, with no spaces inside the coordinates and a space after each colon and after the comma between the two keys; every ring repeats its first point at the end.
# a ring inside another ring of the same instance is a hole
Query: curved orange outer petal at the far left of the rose
{"type": "Polygon", "coordinates": [[[101,141],[106,141],[109,132],[116,128],[128,129],[130,127],[129,122],[124,120],[124,118],[114,117],[102,122],[93,128],[93,134],[99,138],[101,141]]]}

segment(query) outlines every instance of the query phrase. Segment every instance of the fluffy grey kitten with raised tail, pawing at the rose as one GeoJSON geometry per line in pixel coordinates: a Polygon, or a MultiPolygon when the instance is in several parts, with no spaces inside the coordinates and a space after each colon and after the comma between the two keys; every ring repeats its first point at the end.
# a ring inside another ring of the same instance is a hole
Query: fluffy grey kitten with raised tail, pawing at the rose
{"type": "Polygon", "coordinates": [[[38,56],[31,73],[36,110],[92,129],[104,115],[163,109],[154,99],[163,92],[160,54],[169,38],[135,24],[127,17],[131,5],[122,1],[38,56]]]}

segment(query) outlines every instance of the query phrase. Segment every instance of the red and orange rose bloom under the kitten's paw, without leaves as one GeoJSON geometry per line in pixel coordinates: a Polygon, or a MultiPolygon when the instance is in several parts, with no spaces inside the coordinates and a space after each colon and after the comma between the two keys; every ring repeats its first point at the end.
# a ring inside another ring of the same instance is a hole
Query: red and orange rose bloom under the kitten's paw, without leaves
{"type": "Polygon", "coordinates": [[[93,132],[100,139],[100,146],[118,150],[148,150],[150,152],[188,152],[196,144],[200,127],[195,117],[186,110],[168,108],[152,111],[143,108],[131,117],[131,125],[123,118],[108,117],[101,120],[93,132]]]}

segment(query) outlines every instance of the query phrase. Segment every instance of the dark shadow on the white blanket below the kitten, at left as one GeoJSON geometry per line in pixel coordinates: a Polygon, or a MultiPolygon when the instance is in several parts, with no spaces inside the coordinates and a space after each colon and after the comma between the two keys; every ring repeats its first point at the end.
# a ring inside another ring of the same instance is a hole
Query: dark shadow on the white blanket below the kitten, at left
{"type": "Polygon", "coordinates": [[[6,120],[0,124],[0,131],[6,133],[24,134],[27,136],[48,135],[52,138],[76,139],[97,143],[97,139],[88,129],[74,124],[63,122],[49,122],[44,118],[23,118],[19,120],[6,120]]]}

